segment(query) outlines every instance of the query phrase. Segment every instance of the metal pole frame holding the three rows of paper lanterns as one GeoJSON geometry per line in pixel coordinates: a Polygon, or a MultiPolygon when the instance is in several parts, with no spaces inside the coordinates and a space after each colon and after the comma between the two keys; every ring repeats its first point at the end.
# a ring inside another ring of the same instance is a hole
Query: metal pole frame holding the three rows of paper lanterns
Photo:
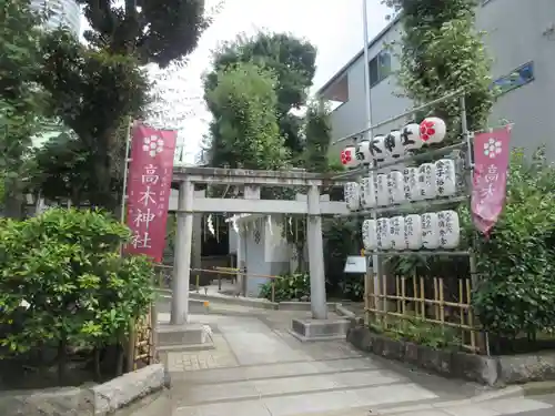
{"type": "MultiPolygon", "coordinates": [[[[452,99],[457,99],[460,102],[460,108],[461,108],[461,135],[460,139],[461,141],[443,146],[443,148],[436,148],[436,149],[430,149],[428,151],[418,153],[418,154],[413,154],[413,155],[407,155],[404,158],[397,158],[395,160],[386,161],[383,163],[377,163],[376,161],[373,162],[373,164],[364,164],[362,166],[356,166],[347,172],[340,173],[337,175],[334,175],[333,179],[341,179],[345,180],[349,177],[353,177],[356,180],[360,180],[363,175],[370,175],[372,172],[381,171],[385,168],[392,168],[392,166],[397,166],[400,164],[408,164],[411,162],[420,161],[420,160],[433,160],[437,159],[438,156],[445,155],[453,153],[454,151],[461,150],[463,153],[466,153],[466,158],[464,160],[464,163],[462,164],[463,169],[458,172],[458,174],[462,174],[464,176],[463,181],[463,186],[461,186],[460,191],[457,192],[456,195],[448,196],[448,197],[434,197],[430,200],[423,200],[423,201],[415,201],[415,202],[410,202],[410,203],[402,203],[402,204],[396,204],[396,205],[391,205],[391,206],[384,206],[384,207],[373,207],[373,209],[366,209],[366,210],[359,210],[359,211],[353,211],[346,215],[342,216],[370,216],[374,220],[377,219],[377,215],[384,214],[384,213],[392,213],[392,212],[403,212],[403,211],[410,211],[410,212],[415,212],[417,209],[427,209],[432,206],[438,206],[438,205],[448,205],[448,204],[454,204],[454,203],[463,203],[467,202],[470,204],[471,202],[471,195],[472,195],[472,184],[473,184],[473,173],[474,173],[474,160],[473,160],[473,140],[474,140],[474,134],[468,131],[467,126],[467,119],[466,119],[466,101],[465,101],[465,91],[464,90],[458,90],[453,93],[446,94],[437,100],[427,102],[423,105],[413,108],[412,110],[408,110],[402,114],[398,114],[396,116],[390,118],[383,122],[376,123],[374,125],[371,125],[355,134],[350,134],[345,138],[342,138],[333,144],[345,142],[345,141],[351,141],[354,142],[354,144],[357,144],[366,134],[372,136],[372,132],[383,125],[390,124],[394,121],[414,115],[417,112],[421,112],[423,110],[426,110],[431,106],[437,105],[442,102],[445,102],[447,100],[452,99]]],[[[444,256],[460,256],[460,257],[467,257],[468,263],[470,263],[470,277],[472,281],[472,286],[476,287],[478,283],[478,274],[476,270],[476,256],[475,256],[475,245],[476,241],[475,239],[471,239],[468,242],[468,248],[467,250],[406,250],[406,251],[372,251],[369,253],[364,253],[366,257],[374,257],[374,262],[377,260],[379,264],[374,265],[371,267],[370,265],[367,266],[366,270],[366,276],[364,280],[364,301],[365,301],[365,324],[370,324],[370,312],[375,313],[377,316],[382,315],[387,315],[387,307],[385,305],[385,302],[389,297],[387,295],[380,294],[380,293],[374,293],[374,302],[376,300],[383,300],[384,305],[383,310],[377,305],[380,302],[376,303],[376,307],[374,310],[370,308],[370,286],[372,285],[374,288],[381,287],[380,284],[380,257],[383,256],[413,256],[413,255],[418,255],[418,256],[437,256],[437,255],[444,255],[444,256]],[[373,282],[373,283],[371,283],[373,282]]],[[[383,276],[384,282],[385,277],[383,276]]],[[[468,301],[470,304],[470,301],[468,301]]],[[[470,307],[470,306],[468,306],[470,307]]],[[[470,322],[474,322],[473,314],[470,312],[470,322]]],[[[483,332],[481,329],[470,327],[471,331],[471,336],[473,338],[473,347],[475,345],[475,331],[482,333],[484,336],[480,337],[481,339],[478,341],[478,345],[475,348],[475,351],[482,351],[485,352],[486,355],[490,355],[490,343],[488,343],[488,336],[486,332],[483,332]]]]}

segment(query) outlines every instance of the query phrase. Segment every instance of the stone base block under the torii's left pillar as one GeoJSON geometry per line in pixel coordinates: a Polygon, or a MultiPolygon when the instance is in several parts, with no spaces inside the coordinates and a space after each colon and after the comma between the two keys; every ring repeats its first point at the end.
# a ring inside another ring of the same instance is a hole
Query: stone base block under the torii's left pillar
{"type": "Polygon", "coordinates": [[[180,349],[211,343],[211,328],[202,324],[159,325],[157,328],[159,349],[180,349]]]}

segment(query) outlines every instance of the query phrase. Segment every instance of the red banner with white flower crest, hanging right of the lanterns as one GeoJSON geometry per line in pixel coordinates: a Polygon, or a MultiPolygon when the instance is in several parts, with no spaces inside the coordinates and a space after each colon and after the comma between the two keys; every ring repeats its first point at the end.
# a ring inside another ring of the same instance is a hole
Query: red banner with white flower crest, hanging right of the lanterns
{"type": "Polygon", "coordinates": [[[476,229],[486,235],[505,204],[509,156],[508,126],[474,136],[472,219],[476,229]]]}

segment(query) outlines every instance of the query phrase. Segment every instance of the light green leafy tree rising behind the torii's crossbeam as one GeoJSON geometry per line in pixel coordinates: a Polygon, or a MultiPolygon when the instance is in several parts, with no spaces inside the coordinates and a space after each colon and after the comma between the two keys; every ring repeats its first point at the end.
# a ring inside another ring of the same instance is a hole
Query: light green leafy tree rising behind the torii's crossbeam
{"type": "Polygon", "coordinates": [[[210,160],[214,166],[280,169],[287,152],[275,115],[273,75],[252,63],[218,72],[215,88],[208,90],[211,123],[210,160]]]}

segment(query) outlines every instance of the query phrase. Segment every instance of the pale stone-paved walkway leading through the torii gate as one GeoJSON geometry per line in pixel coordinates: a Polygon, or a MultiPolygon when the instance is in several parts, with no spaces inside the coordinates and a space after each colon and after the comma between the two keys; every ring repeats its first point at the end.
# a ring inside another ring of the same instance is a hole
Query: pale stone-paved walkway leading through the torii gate
{"type": "MultiPolygon", "coordinates": [[[[191,317],[211,326],[215,348],[168,353],[164,362],[172,376],[171,390],[141,405],[134,415],[555,414],[545,400],[509,398],[505,395],[511,390],[490,392],[412,371],[363,354],[343,341],[301,343],[287,328],[291,318],[302,313],[221,307],[191,317]]],[[[167,314],[160,317],[169,318],[167,314]]]]}

